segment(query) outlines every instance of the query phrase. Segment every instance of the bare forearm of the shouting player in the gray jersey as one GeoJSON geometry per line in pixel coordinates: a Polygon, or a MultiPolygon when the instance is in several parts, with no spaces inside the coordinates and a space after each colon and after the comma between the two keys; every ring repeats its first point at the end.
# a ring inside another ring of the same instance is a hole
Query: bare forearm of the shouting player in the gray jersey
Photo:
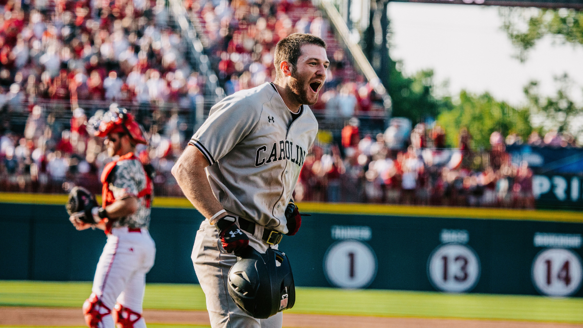
{"type": "MultiPolygon", "coordinates": [[[[205,218],[210,218],[223,206],[216,200],[209,180],[206,177],[205,168],[208,166],[206,159],[195,146],[187,146],[172,168],[172,175],[182,189],[184,196],[201,212],[205,218]]],[[[222,214],[219,217],[223,217],[222,214]]]]}

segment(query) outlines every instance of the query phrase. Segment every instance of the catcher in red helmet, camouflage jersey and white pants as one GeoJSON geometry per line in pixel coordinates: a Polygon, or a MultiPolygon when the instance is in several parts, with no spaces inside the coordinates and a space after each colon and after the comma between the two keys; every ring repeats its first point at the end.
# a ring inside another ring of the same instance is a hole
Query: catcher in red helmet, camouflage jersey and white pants
{"type": "Polygon", "coordinates": [[[71,191],[77,194],[69,196],[72,204],[67,206],[76,229],[97,227],[107,235],[92,294],[83,304],[85,322],[89,327],[146,327],[142,317],[145,276],[156,253],[148,232],[152,180],[135,155],[136,144],[147,144],[146,134],[132,114],[115,104],[90,123],[93,134],[105,138],[113,160],[101,174],[101,206],[80,188],[71,191]]]}

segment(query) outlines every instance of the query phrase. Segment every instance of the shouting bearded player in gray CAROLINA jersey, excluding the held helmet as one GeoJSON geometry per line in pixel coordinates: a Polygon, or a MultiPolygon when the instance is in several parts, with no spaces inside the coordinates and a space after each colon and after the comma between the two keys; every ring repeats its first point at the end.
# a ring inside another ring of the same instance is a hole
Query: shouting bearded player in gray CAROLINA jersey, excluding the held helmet
{"type": "Polygon", "coordinates": [[[192,261],[213,328],[282,327],[282,312],[255,319],[227,291],[227,274],[245,247],[265,253],[301,217],[291,200],[314,143],[314,104],[326,78],[326,44],[294,33],[275,50],[276,79],[226,97],[210,110],[172,173],[207,219],[196,233],[192,261]],[[234,253],[234,254],[233,254],[234,253]]]}

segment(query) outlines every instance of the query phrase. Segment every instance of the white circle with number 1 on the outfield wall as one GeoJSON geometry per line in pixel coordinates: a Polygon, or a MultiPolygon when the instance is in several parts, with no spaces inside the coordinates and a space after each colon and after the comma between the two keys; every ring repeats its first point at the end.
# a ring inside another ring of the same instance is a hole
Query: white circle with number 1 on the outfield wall
{"type": "Polygon", "coordinates": [[[326,251],[324,273],[336,287],[366,288],[377,275],[377,256],[366,243],[343,240],[326,251]]]}

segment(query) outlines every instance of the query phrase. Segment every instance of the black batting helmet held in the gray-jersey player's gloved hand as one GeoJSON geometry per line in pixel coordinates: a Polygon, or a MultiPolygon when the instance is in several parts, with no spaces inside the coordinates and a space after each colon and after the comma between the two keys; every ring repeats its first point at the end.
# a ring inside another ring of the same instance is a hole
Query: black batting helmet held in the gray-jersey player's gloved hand
{"type": "Polygon", "coordinates": [[[229,270],[229,295],[257,319],[291,309],[296,303],[296,287],[286,254],[271,248],[261,254],[247,247],[229,270]]]}

